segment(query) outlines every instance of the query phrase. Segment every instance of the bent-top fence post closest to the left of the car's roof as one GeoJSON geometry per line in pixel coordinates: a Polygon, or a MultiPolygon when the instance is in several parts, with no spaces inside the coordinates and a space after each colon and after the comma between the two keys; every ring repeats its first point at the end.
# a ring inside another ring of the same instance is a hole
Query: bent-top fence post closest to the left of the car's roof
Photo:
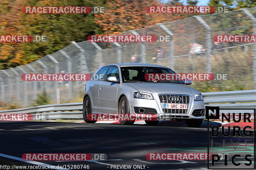
{"type": "MultiPolygon", "coordinates": [[[[88,67],[87,67],[87,62],[86,62],[86,59],[85,59],[85,51],[83,48],[81,48],[77,43],[76,41],[72,41],[72,44],[80,51],[80,73],[84,74],[84,73],[87,73],[89,74],[89,70],[88,70],[88,67]]],[[[77,92],[79,92],[80,89],[83,89],[83,84],[82,84],[82,81],[80,82],[80,86],[79,86],[79,82],[76,81],[77,83],[77,92]]]]}

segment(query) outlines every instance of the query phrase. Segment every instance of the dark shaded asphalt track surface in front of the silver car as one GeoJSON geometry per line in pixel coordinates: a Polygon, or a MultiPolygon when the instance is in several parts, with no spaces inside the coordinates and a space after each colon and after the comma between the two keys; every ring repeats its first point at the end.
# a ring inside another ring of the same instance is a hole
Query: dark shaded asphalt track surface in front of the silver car
{"type": "MultiPolygon", "coordinates": [[[[200,128],[188,128],[172,124],[0,121],[0,159],[1,164],[31,165],[6,158],[3,154],[21,158],[23,153],[105,153],[107,160],[37,162],[55,166],[88,164],[93,170],[113,169],[111,165],[145,165],[147,170],[203,170],[207,169],[206,160],[147,160],[145,156],[147,153],[207,153],[206,124],[204,122],[200,128]]],[[[243,139],[252,141],[253,137],[244,137],[241,141],[243,139]]],[[[223,138],[214,140],[214,147],[222,148],[222,144],[223,138]]],[[[241,142],[235,152],[253,154],[250,150],[252,142],[247,144],[249,150],[244,151],[241,142]]]]}

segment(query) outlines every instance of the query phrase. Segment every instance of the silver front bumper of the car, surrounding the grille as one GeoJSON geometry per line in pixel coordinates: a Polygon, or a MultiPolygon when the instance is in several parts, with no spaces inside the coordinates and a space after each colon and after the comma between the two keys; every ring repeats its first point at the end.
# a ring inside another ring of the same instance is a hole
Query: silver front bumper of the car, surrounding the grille
{"type": "Polygon", "coordinates": [[[194,110],[204,109],[204,101],[194,101],[194,96],[190,96],[189,104],[188,104],[188,111],[187,113],[164,113],[162,108],[162,103],[159,100],[158,95],[154,95],[153,97],[155,100],[149,99],[136,99],[129,101],[130,111],[131,113],[135,114],[134,107],[146,107],[146,108],[153,108],[157,111],[157,117],[172,117],[173,119],[184,118],[184,119],[204,119],[203,116],[194,116],[192,115],[194,110]]]}

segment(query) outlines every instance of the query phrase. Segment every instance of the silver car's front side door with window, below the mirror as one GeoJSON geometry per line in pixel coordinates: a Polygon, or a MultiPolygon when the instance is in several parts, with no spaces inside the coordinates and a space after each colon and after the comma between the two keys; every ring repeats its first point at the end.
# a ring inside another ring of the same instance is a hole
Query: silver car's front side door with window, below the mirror
{"type": "Polygon", "coordinates": [[[108,76],[116,76],[117,80],[120,81],[119,70],[116,66],[111,66],[108,70],[105,81],[100,83],[99,87],[99,102],[100,112],[117,113],[117,89],[119,83],[111,83],[106,81],[108,76]]]}

